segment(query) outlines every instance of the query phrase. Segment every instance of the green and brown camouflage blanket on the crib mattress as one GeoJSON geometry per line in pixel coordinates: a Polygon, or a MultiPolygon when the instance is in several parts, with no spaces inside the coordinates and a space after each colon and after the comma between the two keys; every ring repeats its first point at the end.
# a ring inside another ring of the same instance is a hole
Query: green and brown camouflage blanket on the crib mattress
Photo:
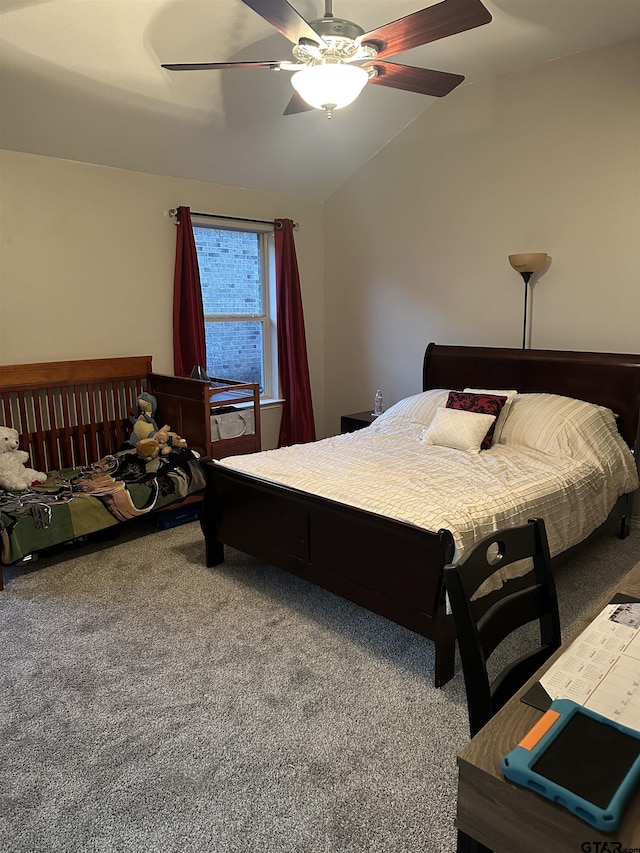
{"type": "Polygon", "coordinates": [[[188,449],[147,463],[135,449],[121,450],[84,468],[50,471],[45,483],[26,492],[0,489],[2,562],[14,563],[203,489],[198,455],[188,449]]]}

